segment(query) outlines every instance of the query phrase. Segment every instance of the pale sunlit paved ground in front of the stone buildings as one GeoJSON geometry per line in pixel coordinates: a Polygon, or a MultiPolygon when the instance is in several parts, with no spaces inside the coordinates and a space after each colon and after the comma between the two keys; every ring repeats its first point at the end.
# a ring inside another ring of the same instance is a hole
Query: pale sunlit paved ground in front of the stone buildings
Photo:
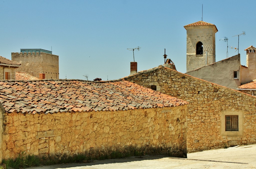
{"type": "Polygon", "coordinates": [[[29,169],[169,169],[169,168],[254,168],[256,169],[256,144],[228,149],[216,149],[188,153],[187,159],[167,156],[141,156],[124,159],[95,160],[91,163],[71,163],[29,169]]]}

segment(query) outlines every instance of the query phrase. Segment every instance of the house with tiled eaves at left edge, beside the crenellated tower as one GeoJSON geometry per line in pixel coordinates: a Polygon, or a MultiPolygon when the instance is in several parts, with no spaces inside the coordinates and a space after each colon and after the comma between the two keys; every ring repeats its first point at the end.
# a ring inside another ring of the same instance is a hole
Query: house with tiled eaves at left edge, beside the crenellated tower
{"type": "Polygon", "coordinates": [[[16,68],[20,67],[20,65],[20,63],[16,63],[0,56],[0,80],[15,79],[16,68]]]}

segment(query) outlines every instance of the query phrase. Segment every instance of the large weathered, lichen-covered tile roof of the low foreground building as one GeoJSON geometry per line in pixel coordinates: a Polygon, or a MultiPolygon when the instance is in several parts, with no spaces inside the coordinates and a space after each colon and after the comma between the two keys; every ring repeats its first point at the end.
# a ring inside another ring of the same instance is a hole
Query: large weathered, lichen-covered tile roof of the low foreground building
{"type": "Polygon", "coordinates": [[[187,104],[124,80],[0,81],[0,102],[7,113],[116,111],[187,104]]]}

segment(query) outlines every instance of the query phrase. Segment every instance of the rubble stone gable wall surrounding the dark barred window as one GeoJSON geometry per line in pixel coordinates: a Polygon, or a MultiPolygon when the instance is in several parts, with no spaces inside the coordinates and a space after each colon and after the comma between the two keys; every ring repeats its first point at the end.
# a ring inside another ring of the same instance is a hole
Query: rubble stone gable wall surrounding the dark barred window
{"type": "Polygon", "coordinates": [[[124,79],[189,102],[188,152],[256,143],[256,97],[162,66],[124,79]],[[239,132],[225,131],[227,114],[239,115],[239,132]]]}

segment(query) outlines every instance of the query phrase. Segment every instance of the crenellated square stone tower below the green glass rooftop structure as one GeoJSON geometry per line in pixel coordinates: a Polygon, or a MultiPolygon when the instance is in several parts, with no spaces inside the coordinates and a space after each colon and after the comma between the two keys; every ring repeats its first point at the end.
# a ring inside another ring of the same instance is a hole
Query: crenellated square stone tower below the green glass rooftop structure
{"type": "Polygon", "coordinates": [[[40,52],[12,53],[12,60],[21,63],[17,72],[26,72],[39,78],[45,73],[46,79],[59,79],[59,56],[40,52]]]}

